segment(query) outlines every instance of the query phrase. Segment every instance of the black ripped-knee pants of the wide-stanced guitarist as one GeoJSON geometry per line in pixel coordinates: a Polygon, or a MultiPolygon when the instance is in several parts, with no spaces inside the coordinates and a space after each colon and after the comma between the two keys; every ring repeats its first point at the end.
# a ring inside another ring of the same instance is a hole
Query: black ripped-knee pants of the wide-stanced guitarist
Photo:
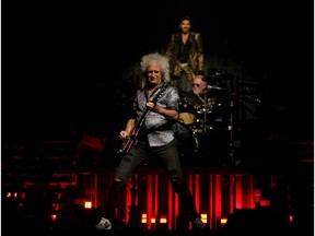
{"type": "Polygon", "coordinates": [[[189,220],[199,217],[194,198],[189,192],[182,174],[180,161],[177,151],[177,141],[174,140],[164,146],[150,148],[148,142],[139,141],[129,153],[124,156],[114,176],[108,200],[106,202],[106,215],[115,216],[115,210],[122,196],[122,188],[132,172],[147,158],[158,158],[167,172],[173,190],[178,194],[180,205],[187,211],[189,220]]]}

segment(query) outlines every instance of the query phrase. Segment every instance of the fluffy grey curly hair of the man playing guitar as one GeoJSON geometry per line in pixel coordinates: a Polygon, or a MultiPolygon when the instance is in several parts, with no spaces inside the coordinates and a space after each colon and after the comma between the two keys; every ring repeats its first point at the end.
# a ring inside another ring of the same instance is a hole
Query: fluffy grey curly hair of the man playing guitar
{"type": "Polygon", "coordinates": [[[170,83],[171,78],[170,78],[168,59],[159,52],[153,52],[144,55],[141,59],[140,62],[140,69],[142,72],[141,87],[143,88],[145,86],[147,83],[145,72],[148,70],[148,67],[151,64],[159,64],[161,67],[162,80],[164,81],[164,83],[170,83]]]}

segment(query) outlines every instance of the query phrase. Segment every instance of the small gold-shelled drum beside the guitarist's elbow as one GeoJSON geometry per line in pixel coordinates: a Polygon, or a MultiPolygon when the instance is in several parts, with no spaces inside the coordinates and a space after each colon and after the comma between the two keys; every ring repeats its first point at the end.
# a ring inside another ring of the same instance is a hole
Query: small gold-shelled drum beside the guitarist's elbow
{"type": "Polygon", "coordinates": [[[179,102],[179,121],[185,125],[191,125],[196,122],[196,108],[194,107],[192,102],[184,97],[179,102]]]}

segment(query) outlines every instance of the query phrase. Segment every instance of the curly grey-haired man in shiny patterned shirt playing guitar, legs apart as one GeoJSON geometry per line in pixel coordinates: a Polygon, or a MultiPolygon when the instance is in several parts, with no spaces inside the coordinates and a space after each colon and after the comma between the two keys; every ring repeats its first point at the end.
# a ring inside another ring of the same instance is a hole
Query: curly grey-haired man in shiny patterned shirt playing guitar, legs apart
{"type": "Polygon", "coordinates": [[[196,210],[194,198],[184,182],[178,143],[172,130],[172,125],[178,119],[179,95],[178,90],[168,84],[168,61],[160,54],[149,54],[142,57],[140,68],[143,79],[133,98],[133,116],[127,121],[125,130],[119,133],[125,141],[132,137],[132,145],[120,160],[104,216],[95,228],[108,228],[108,221],[115,228],[115,212],[124,194],[122,187],[131,173],[147,158],[155,158],[165,167],[172,187],[177,192],[180,204],[187,210],[189,220],[196,228],[206,228],[196,210]]]}

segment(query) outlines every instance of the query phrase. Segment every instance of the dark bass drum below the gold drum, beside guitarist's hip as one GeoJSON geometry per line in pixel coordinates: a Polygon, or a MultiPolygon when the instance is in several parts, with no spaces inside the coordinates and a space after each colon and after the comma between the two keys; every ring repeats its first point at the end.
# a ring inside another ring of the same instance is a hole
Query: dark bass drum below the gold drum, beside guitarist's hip
{"type": "Polygon", "coordinates": [[[191,162],[191,157],[196,155],[196,139],[194,133],[189,127],[180,121],[176,121],[173,125],[173,130],[175,132],[175,137],[178,141],[178,152],[183,161],[191,162]]]}

